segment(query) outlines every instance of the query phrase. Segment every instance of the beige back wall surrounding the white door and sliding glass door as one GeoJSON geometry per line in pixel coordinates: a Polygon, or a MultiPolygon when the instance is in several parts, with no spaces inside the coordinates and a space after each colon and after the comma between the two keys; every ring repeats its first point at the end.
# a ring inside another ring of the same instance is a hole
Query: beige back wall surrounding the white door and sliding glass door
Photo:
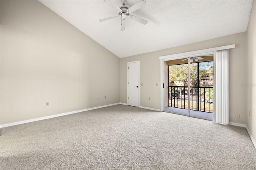
{"type": "Polygon", "coordinates": [[[120,59],[120,102],[127,103],[127,62],[140,60],[140,106],[160,109],[160,56],[235,44],[230,49],[230,122],[246,124],[246,32],[120,59]],[[151,97],[151,100],[148,100],[151,97]],[[240,119],[236,119],[236,113],[240,119]]]}

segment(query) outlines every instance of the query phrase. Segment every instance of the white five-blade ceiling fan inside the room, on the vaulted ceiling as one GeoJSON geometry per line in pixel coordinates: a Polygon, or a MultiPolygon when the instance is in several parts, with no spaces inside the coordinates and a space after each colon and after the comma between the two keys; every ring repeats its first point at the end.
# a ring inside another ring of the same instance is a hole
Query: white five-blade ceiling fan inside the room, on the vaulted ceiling
{"type": "Polygon", "coordinates": [[[141,24],[144,24],[144,25],[146,25],[148,23],[148,21],[146,21],[142,18],[139,18],[139,17],[134,16],[134,15],[130,15],[130,13],[132,13],[132,12],[138,10],[139,8],[141,8],[142,6],[146,5],[146,1],[144,1],[144,0],[139,1],[137,4],[131,6],[130,8],[128,8],[126,6],[126,4],[127,4],[126,0],[121,0],[123,6],[121,6],[120,8],[118,6],[116,6],[116,4],[114,4],[110,0],[104,0],[104,2],[106,2],[108,5],[115,8],[118,12],[118,15],[110,16],[110,17],[107,17],[107,18],[102,18],[102,19],[99,20],[100,22],[110,20],[110,19],[117,18],[117,17],[121,16],[121,31],[125,30],[125,21],[126,21],[126,18],[128,18],[128,17],[131,18],[132,20],[137,21],[137,22],[139,22],[141,24]]]}

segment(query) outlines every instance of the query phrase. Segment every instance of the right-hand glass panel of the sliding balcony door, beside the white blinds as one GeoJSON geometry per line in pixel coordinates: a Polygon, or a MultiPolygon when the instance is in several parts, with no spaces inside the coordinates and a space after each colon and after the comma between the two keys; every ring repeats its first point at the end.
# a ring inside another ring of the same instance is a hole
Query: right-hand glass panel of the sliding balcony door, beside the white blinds
{"type": "Polygon", "coordinates": [[[190,116],[213,120],[213,58],[190,58],[190,116]]]}

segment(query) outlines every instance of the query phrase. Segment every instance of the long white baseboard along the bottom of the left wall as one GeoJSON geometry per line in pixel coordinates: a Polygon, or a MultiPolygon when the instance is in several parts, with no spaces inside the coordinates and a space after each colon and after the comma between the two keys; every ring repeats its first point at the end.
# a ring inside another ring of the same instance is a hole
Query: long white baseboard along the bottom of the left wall
{"type": "Polygon", "coordinates": [[[110,104],[110,105],[104,105],[104,106],[98,106],[98,107],[92,107],[89,109],[83,109],[83,110],[79,110],[79,111],[72,111],[72,112],[67,112],[67,113],[60,113],[58,115],[51,115],[51,116],[46,116],[46,117],[39,117],[36,119],[29,119],[26,121],[19,121],[19,122],[14,122],[14,123],[7,123],[4,125],[0,125],[0,128],[4,128],[4,127],[10,127],[10,126],[14,126],[14,125],[20,125],[20,124],[24,124],[24,123],[30,123],[30,122],[35,122],[35,121],[41,121],[41,120],[45,120],[45,119],[50,119],[50,118],[54,118],[54,117],[60,117],[60,116],[65,116],[65,115],[71,115],[74,113],[80,113],[80,112],[84,112],[84,111],[90,111],[90,110],[94,110],[94,109],[100,109],[103,107],[108,107],[108,106],[114,106],[114,105],[119,105],[120,103],[114,103],[114,104],[110,104]]]}

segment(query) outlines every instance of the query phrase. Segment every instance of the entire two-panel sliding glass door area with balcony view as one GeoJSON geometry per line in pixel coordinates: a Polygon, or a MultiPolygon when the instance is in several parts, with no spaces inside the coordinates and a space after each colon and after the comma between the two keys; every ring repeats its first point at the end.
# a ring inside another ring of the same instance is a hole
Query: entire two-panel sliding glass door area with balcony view
{"type": "Polygon", "coordinates": [[[213,56],[166,61],[169,86],[164,111],[213,120],[213,64],[213,56]]]}

